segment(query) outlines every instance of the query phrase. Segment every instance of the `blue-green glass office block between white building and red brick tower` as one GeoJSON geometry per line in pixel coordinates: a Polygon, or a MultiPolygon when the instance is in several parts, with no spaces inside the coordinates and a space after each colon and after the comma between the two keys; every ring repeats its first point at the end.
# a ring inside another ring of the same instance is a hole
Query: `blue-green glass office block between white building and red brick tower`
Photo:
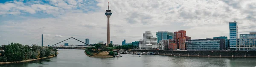
{"type": "Polygon", "coordinates": [[[159,31],[157,32],[157,43],[159,43],[160,40],[172,39],[172,37],[173,37],[173,32],[159,31]]]}

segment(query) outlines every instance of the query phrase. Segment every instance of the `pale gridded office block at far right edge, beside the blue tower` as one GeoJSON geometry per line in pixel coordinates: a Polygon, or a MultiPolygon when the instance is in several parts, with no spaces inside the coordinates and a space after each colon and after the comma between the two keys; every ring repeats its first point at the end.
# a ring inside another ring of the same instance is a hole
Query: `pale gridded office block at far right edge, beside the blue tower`
{"type": "Polygon", "coordinates": [[[239,51],[255,51],[256,50],[256,33],[240,34],[237,39],[237,50],[239,51]]]}

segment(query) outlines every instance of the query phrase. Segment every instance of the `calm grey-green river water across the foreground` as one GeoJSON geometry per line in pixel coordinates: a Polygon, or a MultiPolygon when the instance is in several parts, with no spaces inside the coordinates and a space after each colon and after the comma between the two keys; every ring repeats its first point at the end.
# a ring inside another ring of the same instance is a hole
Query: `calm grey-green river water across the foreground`
{"type": "Polygon", "coordinates": [[[256,58],[208,58],[188,56],[131,55],[93,58],[84,50],[60,49],[58,56],[32,62],[2,64],[0,67],[255,67],[256,58]]]}

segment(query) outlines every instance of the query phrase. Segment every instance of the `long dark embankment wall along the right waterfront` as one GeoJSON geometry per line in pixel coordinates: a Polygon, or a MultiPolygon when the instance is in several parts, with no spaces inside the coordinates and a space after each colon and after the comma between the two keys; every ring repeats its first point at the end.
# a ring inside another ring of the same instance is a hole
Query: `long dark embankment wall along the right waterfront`
{"type": "Polygon", "coordinates": [[[170,51],[170,50],[131,50],[154,52],[157,55],[198,56],[198,57],[255,57],[256,51],[170,51]]]}

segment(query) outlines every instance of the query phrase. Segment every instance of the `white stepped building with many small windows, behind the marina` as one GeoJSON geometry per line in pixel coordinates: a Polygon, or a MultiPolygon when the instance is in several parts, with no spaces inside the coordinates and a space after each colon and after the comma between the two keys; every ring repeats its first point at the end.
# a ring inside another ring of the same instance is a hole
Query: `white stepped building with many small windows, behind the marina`
{"type": "Polygon", "coordinates": [[[157,37],[153,37],[150,31],[143,33],[143,40],[139,41],[139,49],[157,49],[157,37]]]}

